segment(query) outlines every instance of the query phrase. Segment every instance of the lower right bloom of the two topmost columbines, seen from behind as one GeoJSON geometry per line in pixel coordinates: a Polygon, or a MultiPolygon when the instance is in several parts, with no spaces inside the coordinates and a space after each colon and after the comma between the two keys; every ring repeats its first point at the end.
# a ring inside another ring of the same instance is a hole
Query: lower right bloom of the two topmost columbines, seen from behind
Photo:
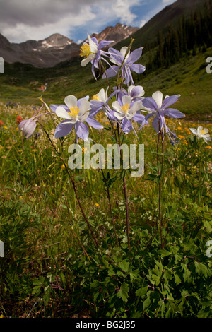
{"type": "MultiPolygon", "coordinates": [[[[114,65],[107,69],[106,75],[108,78],[117,75],[119,68],[122,66],[122,79],[124,80],[124,83],[129,84],[131,81],[134,84],[131,71],[135,71],[136,73],[143,73],[143,71],[146,69],[141,64],[134,64],[134,62],[136,62],[141,57],[143,47],[135,49],[133,52],[126,54],[127,49],[128,47],[125,46],[120,49],[120,52],[112,47],[108,49],[110,53],[110,61],[114,65]]],[[[106,75],[104,73],[102,78],[106,78],[106,75]]]]}

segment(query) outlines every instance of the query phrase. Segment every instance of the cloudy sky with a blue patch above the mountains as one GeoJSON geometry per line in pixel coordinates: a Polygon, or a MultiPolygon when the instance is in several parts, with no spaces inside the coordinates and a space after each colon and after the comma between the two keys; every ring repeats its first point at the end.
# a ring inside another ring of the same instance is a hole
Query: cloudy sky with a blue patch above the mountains
{"type": "Polygon", "coordinates": [[[0,0],[0,33],[10,42],[60,33],[74,42],[117,23],[141,28],[176,0],[0,0]]]}

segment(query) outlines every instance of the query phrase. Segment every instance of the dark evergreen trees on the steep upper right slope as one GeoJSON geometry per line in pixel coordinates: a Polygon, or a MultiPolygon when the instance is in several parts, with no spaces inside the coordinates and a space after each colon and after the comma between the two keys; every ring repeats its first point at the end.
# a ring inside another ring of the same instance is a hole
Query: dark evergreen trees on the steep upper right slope
{"type": "MultiPolygon", "coordinates": [[[[171,25],[167,31],[158,31],[157,49],[153,58],[150,56],[152,69],[169,67],[179,61],[183,55],[196,55],[206,52],[206,47],[212,46],[212,0],[205,3],[204,12],[191,11],[190,16],[182,15],[178,20],[177,29],[171,25]]],[[[151,48],[155,45],[151,45],[151,48]]]]}

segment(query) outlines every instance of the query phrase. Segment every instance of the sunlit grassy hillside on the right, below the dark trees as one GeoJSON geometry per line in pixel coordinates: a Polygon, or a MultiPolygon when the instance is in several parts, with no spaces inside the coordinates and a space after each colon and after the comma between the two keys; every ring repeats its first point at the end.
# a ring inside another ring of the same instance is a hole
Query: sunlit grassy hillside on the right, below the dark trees
{"type": "Polygon", "coordinates": [[[136,84],[143,85],[146,95],[160,90],[167,95],[180,94],[178,109],[187,115],[187,119],[211,121],[212,115],[212,74],[206,73],[206,58],[212,54],[212,48],[206,53],[182,59],[169,69],[147,74],[136,84]]]}

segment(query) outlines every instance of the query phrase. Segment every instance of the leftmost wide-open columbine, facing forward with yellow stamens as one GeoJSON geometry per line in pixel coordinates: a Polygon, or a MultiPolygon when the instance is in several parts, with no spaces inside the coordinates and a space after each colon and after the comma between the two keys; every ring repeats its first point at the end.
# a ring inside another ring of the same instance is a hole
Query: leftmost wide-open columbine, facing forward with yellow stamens
{"type": "Polygon", "coordinates": [[[66,105],[50,105],[52,111],[58,117],[65,119],[55,129],[54,138],[69,135],[74,126],[76,138],[88,141],[89,129],[84,122],[87,122],[95,129],[103,128],[98,121],[89,116],[90,102],[88,97],[77,100],[74,95],[68,95],[65,97],[64,102],[66,105]]]}

